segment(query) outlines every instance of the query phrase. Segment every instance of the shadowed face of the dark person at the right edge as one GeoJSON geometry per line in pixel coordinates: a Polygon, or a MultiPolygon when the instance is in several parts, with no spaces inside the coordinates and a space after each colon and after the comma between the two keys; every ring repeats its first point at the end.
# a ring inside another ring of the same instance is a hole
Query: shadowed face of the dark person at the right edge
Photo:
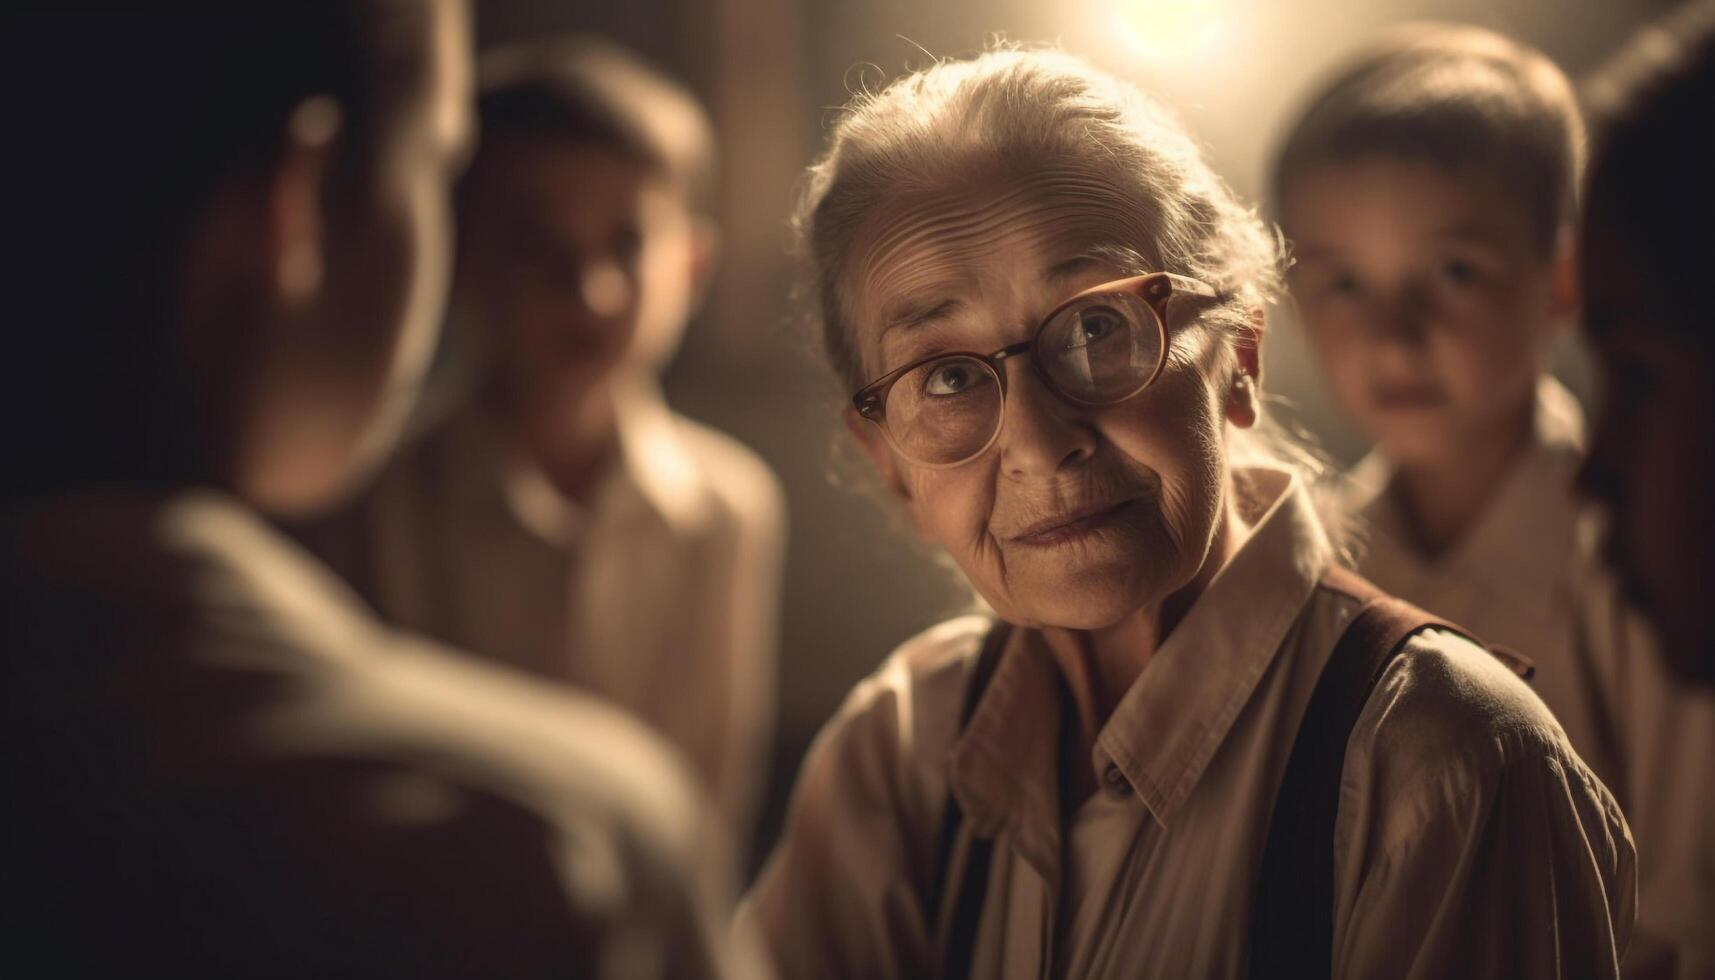
{"type": "Polygon", "coordinates": [[[1682,676],[1715,683],[1715,360],[1688,340],[1696,314],[1664,300],[1670,290],[1612,225],[1593,211],[1583,235],[1580,278],[1602,412],[1580,484],[1609,510],[1604,549],[1655,623],[1662,656],[1682,676]]]}

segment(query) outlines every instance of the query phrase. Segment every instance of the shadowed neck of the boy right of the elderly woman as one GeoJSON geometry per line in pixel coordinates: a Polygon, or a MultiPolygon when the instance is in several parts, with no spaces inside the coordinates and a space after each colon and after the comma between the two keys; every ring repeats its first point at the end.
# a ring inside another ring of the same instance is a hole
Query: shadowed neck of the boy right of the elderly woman
{"type": "Polygon", "coordinates": [[[1437,558],[1465,537],[1525,451],[1533,424],[1530,402],[1506,424],[1461,439],[1458,455],[1401,463],[1387,494],[1399,508],[1406,544],[1423,558],[1437,558]]]}

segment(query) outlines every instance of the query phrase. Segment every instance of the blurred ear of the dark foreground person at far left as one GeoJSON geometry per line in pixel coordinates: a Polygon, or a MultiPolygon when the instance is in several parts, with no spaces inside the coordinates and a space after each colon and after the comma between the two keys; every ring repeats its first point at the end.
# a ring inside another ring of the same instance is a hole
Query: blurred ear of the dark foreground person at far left
{"type": "Polygon", "coordinates": [[[300,307],[322,287],[324,199],[340,129],[340,103],[328,96],[298,103],[286,120],[280,158],[268,173],[262,261],[271,299],[281,307],[300,307]]]}

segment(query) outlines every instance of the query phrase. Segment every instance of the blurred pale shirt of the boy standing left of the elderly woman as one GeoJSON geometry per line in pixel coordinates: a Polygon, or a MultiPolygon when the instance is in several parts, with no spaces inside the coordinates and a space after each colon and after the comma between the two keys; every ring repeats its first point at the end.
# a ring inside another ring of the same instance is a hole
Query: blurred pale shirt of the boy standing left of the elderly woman
{"type": "Polygon", "coordinates": [[[309,541],[386,620],[635,712],[743,831],[773,724],[782,494],[650,379],[621,386],[616,419],[588,508],[466,408],[309,541]]]}

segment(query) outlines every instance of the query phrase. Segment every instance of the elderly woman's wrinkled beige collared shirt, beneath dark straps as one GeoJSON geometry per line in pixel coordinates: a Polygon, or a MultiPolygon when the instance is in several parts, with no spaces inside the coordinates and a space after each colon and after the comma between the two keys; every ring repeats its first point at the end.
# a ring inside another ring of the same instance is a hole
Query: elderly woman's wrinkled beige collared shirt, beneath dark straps
{"type": "MultiPolygon", "coordinates": [[[[928,977],[948,791],[996,834],[976,977],[1243,977],[1269,810],[1357,601],[1307,493],[1257,484],[1254,530],[1098,736],[1098,795],[1060,815],[1056,668],[1015,632],[959,735],[983,618],[900,647],[804,762],[741,906],[784,977],[928,977]]],[[[964,846],[962,843],[959,846],[964,846]]],[[[1487,652],[1413,640],[1351,735],[1334,836],[1338,977],[1614,977],[1633,922],[1619,807],[1487,652]]]]}

